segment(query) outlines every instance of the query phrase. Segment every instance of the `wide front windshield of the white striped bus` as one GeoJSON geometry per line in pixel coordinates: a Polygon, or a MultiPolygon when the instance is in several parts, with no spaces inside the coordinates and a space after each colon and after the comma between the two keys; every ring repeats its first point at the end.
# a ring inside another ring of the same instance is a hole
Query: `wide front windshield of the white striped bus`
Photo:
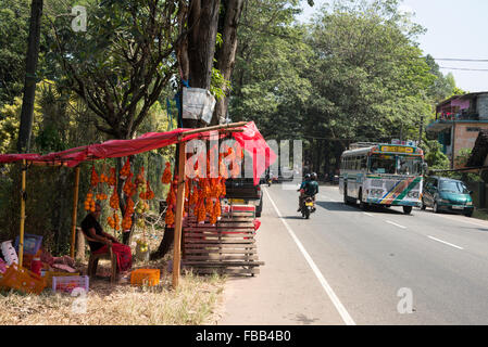
{"type": "Polygon", "coordinates": [[[370,157],[370,174],[422,175],[422,159],[404,155],[374,154],[370,157]]]}

